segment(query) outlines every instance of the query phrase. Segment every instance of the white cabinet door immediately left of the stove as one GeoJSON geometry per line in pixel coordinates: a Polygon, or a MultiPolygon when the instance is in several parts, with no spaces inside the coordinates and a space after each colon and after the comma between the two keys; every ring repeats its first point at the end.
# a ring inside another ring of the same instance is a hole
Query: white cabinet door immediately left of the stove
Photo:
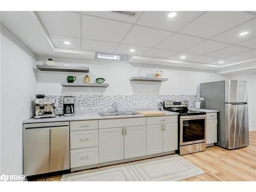
{"type": "Polygon", "coordinates": [[[178,150],[178,123],[163,124],[163,152],[178,150]]]}

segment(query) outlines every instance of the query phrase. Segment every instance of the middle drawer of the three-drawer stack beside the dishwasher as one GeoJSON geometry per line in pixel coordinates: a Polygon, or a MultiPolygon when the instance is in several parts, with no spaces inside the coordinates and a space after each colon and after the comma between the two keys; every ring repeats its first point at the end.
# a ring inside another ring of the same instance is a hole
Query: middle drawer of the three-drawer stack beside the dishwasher
{"type": "Polygon", "coordinates": [[[70,132],[71,150],[92,146],[98,146],[98,130],[70,132]]]}

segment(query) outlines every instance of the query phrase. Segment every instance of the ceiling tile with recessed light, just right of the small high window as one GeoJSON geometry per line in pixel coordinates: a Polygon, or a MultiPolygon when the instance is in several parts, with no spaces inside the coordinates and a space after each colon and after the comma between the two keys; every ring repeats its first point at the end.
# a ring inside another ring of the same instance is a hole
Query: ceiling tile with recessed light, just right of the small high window
{"type": "Polygon", "coordinates": [[[148,50],[150,50],[150,48],[120,44],[115,50],[115,52],[124,53],[124,54],[133,54],[133,55],[142,55],[148,50]],[[135,51],[130,52],[131,49],[134,49],[135,51]]]}

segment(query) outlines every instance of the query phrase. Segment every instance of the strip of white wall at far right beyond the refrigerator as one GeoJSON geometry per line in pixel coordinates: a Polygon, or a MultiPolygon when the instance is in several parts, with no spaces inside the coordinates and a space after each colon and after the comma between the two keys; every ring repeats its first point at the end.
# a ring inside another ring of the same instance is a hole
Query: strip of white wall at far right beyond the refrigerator
{"type": "Polygon", "coordinates": [[[248,81],[249,129],[256,130],[256,74],[236,75],[232,79],[248,81]]]}

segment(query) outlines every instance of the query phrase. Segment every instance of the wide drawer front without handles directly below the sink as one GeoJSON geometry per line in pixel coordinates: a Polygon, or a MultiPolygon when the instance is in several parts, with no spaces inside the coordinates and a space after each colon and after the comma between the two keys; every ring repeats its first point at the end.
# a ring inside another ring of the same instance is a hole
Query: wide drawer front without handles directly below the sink
{"type": "Polygon", "coordinates": [[[145,117],[121,118],[121,119],[99,119],[99,129],[123,126],[145,125],[145,117]]]}

